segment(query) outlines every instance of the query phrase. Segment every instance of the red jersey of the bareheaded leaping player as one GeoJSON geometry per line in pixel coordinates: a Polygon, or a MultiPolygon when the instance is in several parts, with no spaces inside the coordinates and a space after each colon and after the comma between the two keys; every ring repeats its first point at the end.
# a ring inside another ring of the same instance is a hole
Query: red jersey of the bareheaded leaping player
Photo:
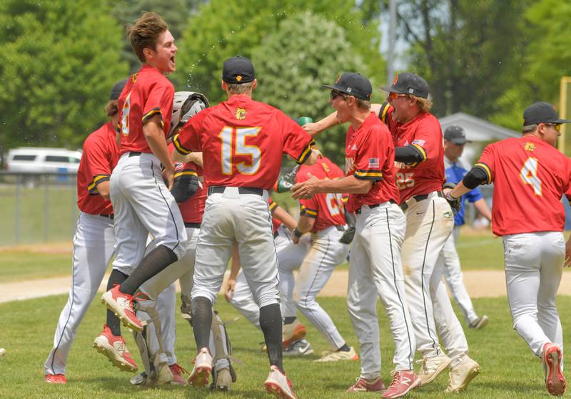
{"type": "Polygon", "coordinates": [[[166,138],[171,127],[173,97],[173,84],[156,68],[143,65],[131,75],[118,100],[121,154],[129,151],[152,153],[143,135],[143,125],[154,115],[161,115],[166,138]]]}

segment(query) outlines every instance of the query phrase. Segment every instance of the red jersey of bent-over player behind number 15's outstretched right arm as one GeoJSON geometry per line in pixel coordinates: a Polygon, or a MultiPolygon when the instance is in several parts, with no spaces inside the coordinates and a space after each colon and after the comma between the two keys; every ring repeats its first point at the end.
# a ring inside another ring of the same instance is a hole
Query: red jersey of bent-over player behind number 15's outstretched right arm
{"type": "MultiPolygon", "coordinates": [[[[301,165],[295,182],[305,182],[313,175],[318,179],[339,179],[343,177],[343,170],[335,165],[329,158],[320,157],[315,164],[301,165]]],[[[300,215],[315,218],[311,232],[318,232],[330,226],[345,224],[345,209],[343,194],[319,193],[311,198],[300,199],[300,215]]]]}

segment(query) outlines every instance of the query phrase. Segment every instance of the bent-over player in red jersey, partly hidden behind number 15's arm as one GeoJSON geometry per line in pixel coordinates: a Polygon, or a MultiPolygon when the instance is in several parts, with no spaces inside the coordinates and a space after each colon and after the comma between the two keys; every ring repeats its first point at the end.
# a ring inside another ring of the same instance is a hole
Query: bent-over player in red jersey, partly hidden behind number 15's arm
{"type": "MultiPolygon", "coordinates": [[[[302,165],[295,175],[295,182],[305,182],[311,177],[334,180],[343,177],[343,171],[327,157],[320,157],[313,165],[302,165]]],[[[287,326],[296,321],[297,309],[308,318],[327,339],[331,348],[318,359],[320,362],[359,358],[355,350],[347,345],[327,312],[315,300],[335,266],[347,257],[349,246],[339,242],[344,230],[342,194],[320,193],[300,199],[300,218],[293,230],[293,243],[295,246],[302,234],[310,233],[309,250],[301,262],[293,263],[285,259],[278,262],[284,324],[287,326]],[[293,278],[294,269],[300,269],[297,280],[293,278]]]]}

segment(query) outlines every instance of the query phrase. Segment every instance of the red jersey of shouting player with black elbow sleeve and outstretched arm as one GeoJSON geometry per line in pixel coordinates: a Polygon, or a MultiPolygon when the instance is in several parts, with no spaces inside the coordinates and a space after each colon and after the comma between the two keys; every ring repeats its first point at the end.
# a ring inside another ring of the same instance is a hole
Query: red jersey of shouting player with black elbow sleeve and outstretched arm
{"type": "Polygon", "coordinates": [[[421,112],[413,120],[399,123],[393,119],[393,112],[393,107],[383,104],[380,118],[388,125],[395,147],[413,145],[423,155],[419,163],[397,170],[400,203],[414,195],[442,190],[446,175],[440,122],[431,113],[421,112]]]}

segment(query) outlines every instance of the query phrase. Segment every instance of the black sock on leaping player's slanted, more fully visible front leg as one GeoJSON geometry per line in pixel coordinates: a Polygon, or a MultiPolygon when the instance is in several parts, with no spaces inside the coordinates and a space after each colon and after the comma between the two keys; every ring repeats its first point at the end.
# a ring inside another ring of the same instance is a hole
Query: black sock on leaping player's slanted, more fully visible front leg
{"type": "Polygon", "coordinates": [[[143,260],[141,260],[141,263],[138,264],[137,268],[133,270],[131,276],[123,281],[119,290],[123,294],[135,294],[138,287],[140,287],[145,281],[161,273],[166,266],[176,262],[177,259],[178,258],[172,249],[169,249],[164,245],[159,245],[146,254],[146,257],[144,257],[143,260]]]}

